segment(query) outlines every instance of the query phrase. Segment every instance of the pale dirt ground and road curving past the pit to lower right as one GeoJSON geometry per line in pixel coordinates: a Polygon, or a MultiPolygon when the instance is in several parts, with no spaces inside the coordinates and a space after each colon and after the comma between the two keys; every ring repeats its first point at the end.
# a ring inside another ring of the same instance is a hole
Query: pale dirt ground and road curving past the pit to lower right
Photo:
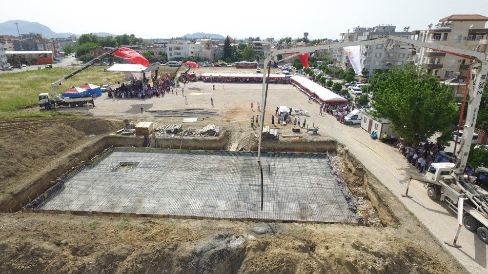
{"type": "MultiPolygon", "coordinates": [[[[260,84],[233,84],[218,83],[216,90],[212,90],[211,83],[188,83],[184,88],[184,95],[188,98],[188,105],[184,104],[184,97],[179,89],[176,94],[166,95],[164,98],[113,100],[97,98],[96,106],[89,112],[97,116],[117,116],[123,118],[142,118],[157,120],[147,112],[141,114],[140,105],[144,110],[205,108],[216,110],[224,121],[247,123],[252,116],[260,114],[256,103],[261,100],[260,84]],[[214,100],[211,106],[210,98],[214,100]],[[251,111],[250,103],[254,102],[251,111]]],[[[346,146],[365,167],[380,179],[383,184],[399,197],[408,210],[415,214],[439,240],[439,242],[452,241],[456,230],[456,215],[444,204],[432,201],[427,197],[426,189],[420,183],[411,185],[409,194],[413,198],[401,197],[405,193],[408,176],[418,176],[413,167],[407,165],[403,156],[398,154],[390,145],[372,140],[359,126],[339,124],[331,116],[319,116],[319,105],[308,103],[305,95],[301,94],[291,85],[270,85],[268,91],[266,123],[270,123],[270,116],[274,114],[277,106],[285,105],[288,108],[301,108],[310,111],[306,117],[308,124],[320,127],[319,133],[330,135],[346,146]]],[[[69,110],[69,109],[67,109],[69,110]]],[[[86,109],[79,110],[86,112],[86,109]]],[[[304,118],[304,117],[302,117],[304,118]]],[[[210,118],[211,121],[213,118],[210,118]]],[[[457,258],[468,271],[472,273],[487,272],[488,245],[481,242],[478,237],[466,229],[461,230],[458,243],[463,247],[456,249],[443,244],[453,257],[457,258]]],[[[423,243],[426,245],[436,244],[423,243]]]]}

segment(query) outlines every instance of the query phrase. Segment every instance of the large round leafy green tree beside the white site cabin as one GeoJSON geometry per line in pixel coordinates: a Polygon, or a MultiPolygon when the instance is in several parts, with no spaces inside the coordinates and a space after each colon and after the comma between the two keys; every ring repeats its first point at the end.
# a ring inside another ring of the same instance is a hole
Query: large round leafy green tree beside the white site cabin
{"type": "MultiPolygon", "coordinates": [[[[423,66],[395,67],[375,81],[374,117],[388,119],[408,143],[445,131],[456,113],[452,90],[423,66]]],[[[371,85],[371,84],[370,84],[371,85]]]]}

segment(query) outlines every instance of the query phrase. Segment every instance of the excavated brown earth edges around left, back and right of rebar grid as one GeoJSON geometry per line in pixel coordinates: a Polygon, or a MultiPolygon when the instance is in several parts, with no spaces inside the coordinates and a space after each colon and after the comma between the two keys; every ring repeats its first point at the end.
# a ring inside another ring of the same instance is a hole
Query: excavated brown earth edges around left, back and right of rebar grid
{"type": "MultiPolygon", "coordinates": [[[[114,135],[103,136],[89,142],[74,152],[67,161],[60,163],[45,174],[40,174],[39,180],[30,184],[30,187],[1,204],[2,211],[21,210],[24,205],[53,187],[57,182],[56,180],[66,171],[74,169],[83,161],[89,161],[110,146],[141,147],[142,142],[143,139],[139,137],[114,135]]],[[[183,150],[223,151],[230,146],[230,134],[224,131],[219,137],[158,138],[156,144],[157,148],[162,149],[179,149],[181,147],[183,150]]],[[[252,145],[253,148],[257,148],[257,143],[252,145]]],[[[337,167],[339,175],[342,176],[346,187],[354,198],[362,197],[363,201],[369,202],[366,203],[370,207],[369,211],[375,213],[379,219],[377,225],[387,226],[399,222],[388,206],[388,204],[395,202],[391,194],[388,194],[382,184],[335,140],[263,141],[262,148],[265,152],[328,153],[339,158],[342,162],[337,167]]],[[[336,165],[337,162],[333,161],[333,164],[336,165]]]]}

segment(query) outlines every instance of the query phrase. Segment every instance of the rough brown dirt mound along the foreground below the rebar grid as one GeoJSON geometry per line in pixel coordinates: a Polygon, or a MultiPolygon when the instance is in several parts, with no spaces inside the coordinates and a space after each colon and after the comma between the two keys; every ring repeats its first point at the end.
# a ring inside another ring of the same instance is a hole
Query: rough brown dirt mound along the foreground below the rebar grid
{"type": "Polygon", "coordinates": [[[334,224],[2,214],[0,272],[464,273],[438,258],[439,247],[427,253],[396,233],[334,224]]]}

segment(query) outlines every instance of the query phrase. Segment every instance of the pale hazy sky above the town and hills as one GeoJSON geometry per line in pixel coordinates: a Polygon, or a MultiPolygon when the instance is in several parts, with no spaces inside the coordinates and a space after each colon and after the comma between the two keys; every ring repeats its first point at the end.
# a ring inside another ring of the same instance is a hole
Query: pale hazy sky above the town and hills
{"type": "Polygon", "coordinates": [[[393,24],[397,31],[426,29],[452,14],[488,17],[488,0],[184,0],[7,1],[0,22],[39,22],[54,32],[135,34],[144,39],[187,33],[229,35],[234,39],[272,37],[340,39],[354,27],[393,24]],[[179,7],[178,3],[184,6],[179,7]]]}

